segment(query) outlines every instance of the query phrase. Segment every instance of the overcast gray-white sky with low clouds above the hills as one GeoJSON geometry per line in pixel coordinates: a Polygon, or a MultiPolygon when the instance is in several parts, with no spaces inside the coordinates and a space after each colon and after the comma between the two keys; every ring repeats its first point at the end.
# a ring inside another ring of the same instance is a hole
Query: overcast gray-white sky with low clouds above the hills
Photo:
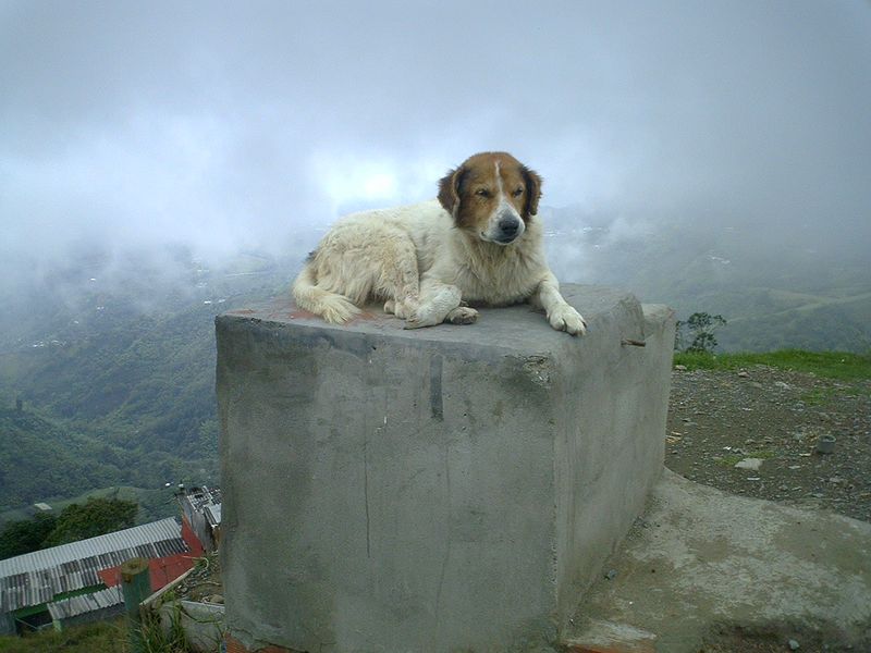
{"type": "Polygon", "coordinates": [[[871,4],[0,0],[0,255],[280,248],[508,150],[544,205],[868,243],[871,4]]]}

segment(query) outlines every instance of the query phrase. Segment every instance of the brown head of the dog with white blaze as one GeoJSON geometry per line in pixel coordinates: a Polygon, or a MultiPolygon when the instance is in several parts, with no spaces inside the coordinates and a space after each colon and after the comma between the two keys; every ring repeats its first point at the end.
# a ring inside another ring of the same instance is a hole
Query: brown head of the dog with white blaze
{"type": "Polygon", "coordinates": [[[439,201],[458,229],[510,245],[538,212],[541,177],[505,152],[466,159],[439,182],[439,201]]]}

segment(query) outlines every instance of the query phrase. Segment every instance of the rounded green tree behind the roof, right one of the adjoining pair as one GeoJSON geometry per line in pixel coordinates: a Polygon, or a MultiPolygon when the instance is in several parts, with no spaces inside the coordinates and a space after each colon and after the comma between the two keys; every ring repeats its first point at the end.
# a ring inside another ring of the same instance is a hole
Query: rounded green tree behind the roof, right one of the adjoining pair
{"type": "Polygon", "coordinates": [[[82,505],[70,504],[61,510],[44,545],[68,544],[130,528],[136,523],[138,509],[135,502],[121,498],[89,498],[82,505]]]}

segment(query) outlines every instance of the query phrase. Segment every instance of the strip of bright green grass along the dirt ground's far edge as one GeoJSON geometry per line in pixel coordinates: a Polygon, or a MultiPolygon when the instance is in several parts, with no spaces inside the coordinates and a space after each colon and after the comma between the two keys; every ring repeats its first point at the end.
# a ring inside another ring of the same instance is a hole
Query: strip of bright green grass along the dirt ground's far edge
{"type": "Polygon", "coordinates": [[[813,373],[838,381],[871,380],[871,354],[781,349],[761,354],[675,353],[674,364],[688,370],[738,370],[755,365],[813,373]]]}

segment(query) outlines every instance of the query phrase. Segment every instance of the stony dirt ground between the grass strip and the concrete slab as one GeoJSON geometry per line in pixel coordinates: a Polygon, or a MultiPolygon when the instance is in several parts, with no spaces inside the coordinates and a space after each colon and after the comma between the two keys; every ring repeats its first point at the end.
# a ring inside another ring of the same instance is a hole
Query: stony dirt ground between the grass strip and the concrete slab
{"type": "Polygon", "coordinates": [[[871,383],[764,366],[672,375],[665,465],[726,492],[871,521],[871,383]],[[821,436],[835,438],[821,454],[821,436]],[[749,468],[735,467],[741,460],[749,468]]]}

